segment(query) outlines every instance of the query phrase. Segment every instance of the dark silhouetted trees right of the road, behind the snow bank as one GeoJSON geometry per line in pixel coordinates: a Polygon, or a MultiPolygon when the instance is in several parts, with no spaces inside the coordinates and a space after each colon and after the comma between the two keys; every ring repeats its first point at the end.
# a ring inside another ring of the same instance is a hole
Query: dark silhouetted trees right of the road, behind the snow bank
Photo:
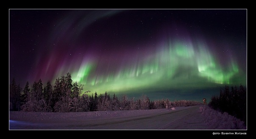
{"type": "Polygon", "coordinates": [[[246,88],[240,85],[231,87],[228,86],[220,90],[219,96],[212,96],[209,107],[220,112],[227,112],[229,115],[242,120],[246,124],[247,120],[247,91],[246,88]]]}

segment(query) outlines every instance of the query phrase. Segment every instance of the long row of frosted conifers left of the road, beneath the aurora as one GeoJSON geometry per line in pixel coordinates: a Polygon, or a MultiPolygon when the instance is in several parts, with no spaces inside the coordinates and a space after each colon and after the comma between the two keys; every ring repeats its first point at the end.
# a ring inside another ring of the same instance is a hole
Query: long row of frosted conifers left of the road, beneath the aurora
{"type": "Polygon", "coordinates": [[[27,82],[25,88],[16,85],[15,79],[9,87],[9,110],[27,112],[89,112],[106,110],[149,110],[149,109],[170,109],[172,107],[201,105],[195,101],[174,101],[161,99],[150,101],[146,95],[142,95],[138,100],[128,99],[122,95],[118,99],[114,94],[111,97],[105,94],[88,95],[90,91],[83,93],[83,85],[72,84],[70,73],[56,79],[54,86],[47,81],[43,87],[42,80],[34,82],[31,87],[27,82]]]}

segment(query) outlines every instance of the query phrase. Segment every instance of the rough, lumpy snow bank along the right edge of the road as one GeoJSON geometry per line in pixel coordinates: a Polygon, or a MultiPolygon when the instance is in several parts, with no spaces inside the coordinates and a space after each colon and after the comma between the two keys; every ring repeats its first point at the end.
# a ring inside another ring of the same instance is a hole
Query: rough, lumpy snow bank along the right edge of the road
{"type": "Polygon", "coordinates": [[[221,113],[209,107],[200,107],[199,111],[205,116],[205,123],[209,126],[208,129],[216,130],[246,130],[244,121],[237,119],[227,112],[221,113]]]}

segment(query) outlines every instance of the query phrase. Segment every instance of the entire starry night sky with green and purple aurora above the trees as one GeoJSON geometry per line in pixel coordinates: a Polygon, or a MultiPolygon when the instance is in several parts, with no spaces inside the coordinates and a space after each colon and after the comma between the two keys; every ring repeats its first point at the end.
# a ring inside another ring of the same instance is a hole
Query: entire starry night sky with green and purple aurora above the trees
{"type": "Polygon", "coordinates": [[[247,10],[9,9],[9,83],[68,72],[91,94],[209,102],[247,86],[247,10]]]}

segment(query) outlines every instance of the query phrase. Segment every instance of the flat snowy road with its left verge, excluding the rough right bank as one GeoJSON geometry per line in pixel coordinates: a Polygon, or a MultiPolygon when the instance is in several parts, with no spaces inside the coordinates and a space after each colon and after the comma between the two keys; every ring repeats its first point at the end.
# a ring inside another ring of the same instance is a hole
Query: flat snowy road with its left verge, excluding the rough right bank
{"type": "MultiPolygon", "coordinates": [[[[31,115],[31,119],[17,118],[15,112],[10,112],[9,129],[12,130],[203,130],[207,128],[204,116],[199,112],[200,106],[176,107],[172,109],[158,110],[134,110],[134,111],[102,111],[91,112],[92,116],[83,115],[86,112],[79,112],[76,116],[70,113],[61,113],[60,118],[57,113],[37,112],[31,115]],[[100,113],[100,114],[99,114],[100,113]],[[103,115],[103,113],[105,115],[103,115]],[[49,115],[54,114],[50,118],[49,115]],[[50,120],[46,120],[49,117],[50,120]],[[23,119],[23,120],[22,120],[23,119]]],[[[28,113],[28,112],[27,112],[28,113]]],[[[18,112],[16,112],[18,115],[18,112]]]]}

